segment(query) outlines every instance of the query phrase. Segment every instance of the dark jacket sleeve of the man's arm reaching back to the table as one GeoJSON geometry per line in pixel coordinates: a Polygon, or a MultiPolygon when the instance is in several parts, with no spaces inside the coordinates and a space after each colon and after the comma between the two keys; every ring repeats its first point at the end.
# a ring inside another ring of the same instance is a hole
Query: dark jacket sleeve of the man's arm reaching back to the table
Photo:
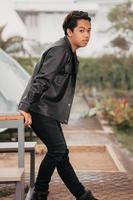
{"type": "Polygon", "coordinates": [[[36,102],[54,80],[57,72],[65,63],[64,47],[53,47],[46,55],[39,72],[35,75],[29,90],[23,94],[18,109],[28,112],[30,105],[36,102]]]}

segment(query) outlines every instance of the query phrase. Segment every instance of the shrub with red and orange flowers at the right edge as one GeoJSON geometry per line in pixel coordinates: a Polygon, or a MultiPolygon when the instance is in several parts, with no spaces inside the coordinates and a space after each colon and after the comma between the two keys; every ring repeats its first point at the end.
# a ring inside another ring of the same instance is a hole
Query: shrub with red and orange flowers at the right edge
{"type": "Polygon", "coordinates": [[[126,98],[102,99],[100,110],[109,123],[118,129],[133,128],[133,108],[130,108],[126,98]]]}

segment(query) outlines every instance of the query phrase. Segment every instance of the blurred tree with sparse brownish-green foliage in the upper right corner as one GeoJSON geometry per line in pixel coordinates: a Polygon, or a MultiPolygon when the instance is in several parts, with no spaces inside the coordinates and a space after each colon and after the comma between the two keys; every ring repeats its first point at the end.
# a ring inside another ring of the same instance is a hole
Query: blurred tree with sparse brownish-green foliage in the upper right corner
{"type": "Polygon", "coordinates": [[[108,14],[112,23],[109,30],[115,31],[117,36],[111,41],[113,47],[118,47],[122,52],[127,52],[133,45],[133,8],[127,1],[114,7],[108,14]]]}

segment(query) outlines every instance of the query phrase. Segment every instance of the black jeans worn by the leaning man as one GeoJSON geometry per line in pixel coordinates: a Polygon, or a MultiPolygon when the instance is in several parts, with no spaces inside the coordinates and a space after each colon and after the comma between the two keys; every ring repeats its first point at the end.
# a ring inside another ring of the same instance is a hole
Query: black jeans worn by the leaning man
{"type": "Polygon", "coordinates": [[[78,180],[72,165],[69,162],[69,150],[62,132],[60,122],[51,117],[43,116],[37,113],[32,115],[32,129],[41,141],[47,147],[47,153],[41,162],[37,175],[35,189],[37,191],[48,191],[51,176],[57,168],[57,171],[70,190],[76,197],[80,197],[85,188],[78,180]]]}

